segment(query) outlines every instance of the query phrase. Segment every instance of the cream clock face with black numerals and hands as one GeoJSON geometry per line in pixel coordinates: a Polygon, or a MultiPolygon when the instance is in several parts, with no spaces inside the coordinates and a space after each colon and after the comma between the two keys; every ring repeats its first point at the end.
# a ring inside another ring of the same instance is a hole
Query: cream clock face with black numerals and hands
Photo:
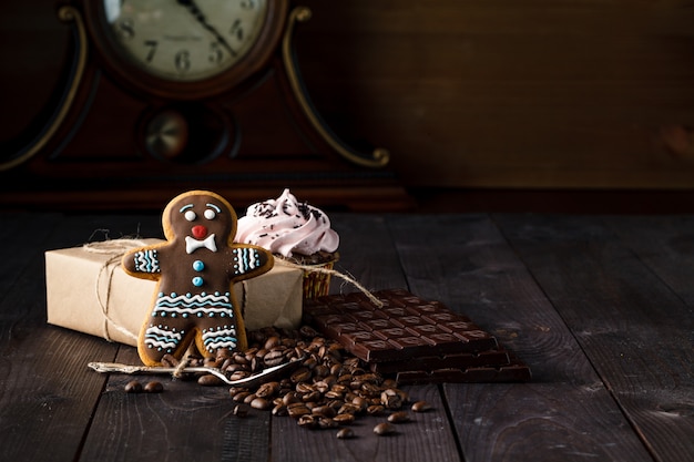
{"type": "Polygon", "coordinates": [[[114,52],[169,82],[228,72],[258,42],[268,17],[268,0],[102,1],[114,52]]]}

